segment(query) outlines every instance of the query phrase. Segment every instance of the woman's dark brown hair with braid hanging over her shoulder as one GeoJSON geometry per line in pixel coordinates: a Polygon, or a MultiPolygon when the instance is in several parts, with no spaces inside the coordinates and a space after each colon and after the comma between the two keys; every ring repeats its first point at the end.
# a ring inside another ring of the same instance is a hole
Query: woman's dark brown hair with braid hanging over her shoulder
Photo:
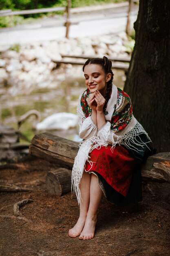
{"type": "Polygon", "coordinates": [[[109,94],[110,91],[112,89],[112,81],[113,81],[113,72],[112,72],[112,62],[110,60],[108,60],[108,58],[106,56],[104,56],[103,58],[89,58],[83,66],[83,72],[84,72],[84,67],[86,67],[86,65],[88,64],[97,64],[100,65],[104,71],[104,73],[107,75],[108,73],[111,74],[111,78],[110,80],[107,82],[107,89],[106,89],[106,95],[105,95],[105,99],[106,102],[109,99],[109,94]]]}

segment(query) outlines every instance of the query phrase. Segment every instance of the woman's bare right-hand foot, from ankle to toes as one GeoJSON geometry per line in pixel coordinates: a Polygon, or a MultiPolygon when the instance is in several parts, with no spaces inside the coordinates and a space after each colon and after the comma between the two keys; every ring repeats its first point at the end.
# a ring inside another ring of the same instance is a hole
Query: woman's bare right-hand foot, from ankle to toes
{"type": "Polygon", "coordinates": [[[97,218],[86,218],[86,222],[82,233],[79,236],[81,240],[92,239],[95,235],[95,226],[96,226],[97,218]]]}

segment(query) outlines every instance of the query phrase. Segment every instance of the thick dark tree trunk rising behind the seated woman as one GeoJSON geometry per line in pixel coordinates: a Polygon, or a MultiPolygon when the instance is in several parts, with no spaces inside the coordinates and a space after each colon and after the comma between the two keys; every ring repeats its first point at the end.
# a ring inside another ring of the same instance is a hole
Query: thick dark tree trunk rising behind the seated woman
{"type": "Polygon", "coordinates": [[[124,90],[158,152],[170,151],[170,1],[140,0],[124,90]]]}

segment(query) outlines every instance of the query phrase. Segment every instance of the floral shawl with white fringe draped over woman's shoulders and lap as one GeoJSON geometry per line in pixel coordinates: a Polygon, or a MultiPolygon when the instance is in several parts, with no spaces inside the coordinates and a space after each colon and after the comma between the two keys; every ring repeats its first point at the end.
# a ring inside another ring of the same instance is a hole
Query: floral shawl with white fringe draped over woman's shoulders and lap
{"type": "MultiPolygon", "coordinates": [[[[87,97],[90,94],[89,90],[86,90],[80,97],[80,103],[77,106],[77,114],[79,120],[83,122],[87,117],[91,116],[92,110],[87,104],[87,97]]],[[[125,145],[126,148],[139,151],[145,150],[147,143],[150,142],[150,138],[144,128],[132,115],[132,104],[130,97],[121,89],[115,85],[112,86],[112,90],[109,95],[108,102],[104,107],[104,115],[106,121],[111,123],[110,130],[112,134],[112,150],[114,150],[116,144],[125,145]],[[148,141],[144,142],[140,139],[137,142],[136,138],[139,134],[146,134],[148,141]],[[138,146],[135,147],[135,146],[138,146]]],[[[80,204],[81,194],[79,190],[79,182],[82,178],[86,161],[91,166],[93,163],[89,159],[89,153],[94,148],[100,148],[101,146],[107,146],[106,141],[102,141],[99,136],[85,139],[79,144],[79,151],[75,157],[75,162],[72,170],[72,189],[77,196],[77,201],[80,204]]]]}

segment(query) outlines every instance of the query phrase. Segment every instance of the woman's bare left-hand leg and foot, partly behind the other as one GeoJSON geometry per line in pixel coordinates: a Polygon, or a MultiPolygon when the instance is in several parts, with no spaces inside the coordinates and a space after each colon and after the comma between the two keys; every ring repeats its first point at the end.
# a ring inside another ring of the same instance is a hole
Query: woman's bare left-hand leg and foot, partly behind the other
{"type": "Polygon", "coordinates": [[[79,236],[84,227],[86,221],[86,216],[88,212],[88,206],[90,202],[90,184],[91,184],[91,174],[84,171],[82,179],[79,184],[79,189],[81,192],[82,201],[80,203],[79,218],[75,226],[68,231],[68,235],[71,237],[79,236]]]}

